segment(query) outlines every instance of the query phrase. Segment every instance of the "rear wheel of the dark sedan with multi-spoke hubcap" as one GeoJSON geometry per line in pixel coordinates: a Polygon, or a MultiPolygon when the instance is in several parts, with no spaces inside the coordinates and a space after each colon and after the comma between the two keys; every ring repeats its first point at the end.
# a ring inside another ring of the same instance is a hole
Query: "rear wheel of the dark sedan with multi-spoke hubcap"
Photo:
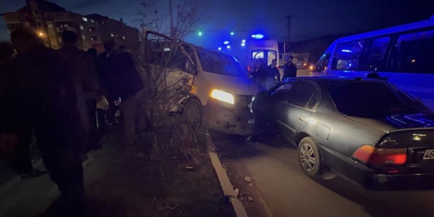
{"type": "Polygon", "coordinates": [[[298,163],[303,172],[312,179],[321,174],[321,155],[312,137],[306,137],[298,144],[298,163]]]}

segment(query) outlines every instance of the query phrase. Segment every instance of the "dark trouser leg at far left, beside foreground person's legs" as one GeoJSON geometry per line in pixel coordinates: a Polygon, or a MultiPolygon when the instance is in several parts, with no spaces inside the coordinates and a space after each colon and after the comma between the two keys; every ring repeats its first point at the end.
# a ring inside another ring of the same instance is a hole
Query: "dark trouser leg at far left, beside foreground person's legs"
{"type": "Polygon", "coordinates": [[[30,144],[32,143],[32,128],[21,129],[17,133],[18,143],[9,158],[9,164],[13,172],[26,174],[33,170],[30,155],[30,144]]]}

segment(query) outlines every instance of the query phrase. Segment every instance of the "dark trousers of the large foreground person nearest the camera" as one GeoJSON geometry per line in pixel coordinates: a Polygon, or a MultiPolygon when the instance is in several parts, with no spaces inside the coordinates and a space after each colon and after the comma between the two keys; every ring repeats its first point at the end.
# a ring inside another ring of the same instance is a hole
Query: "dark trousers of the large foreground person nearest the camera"
{"type": "MultiPolygon", "coordinates": [[[[41,129],[36,132],[45,168],[50,174],[71,210],[81,212],[84,205],[83,167],[79,157],[79,145],[68,145],[66,133],[57,129],[41,129]]],[[[75,212],[74,211],[74,212],[75,212]]]]}

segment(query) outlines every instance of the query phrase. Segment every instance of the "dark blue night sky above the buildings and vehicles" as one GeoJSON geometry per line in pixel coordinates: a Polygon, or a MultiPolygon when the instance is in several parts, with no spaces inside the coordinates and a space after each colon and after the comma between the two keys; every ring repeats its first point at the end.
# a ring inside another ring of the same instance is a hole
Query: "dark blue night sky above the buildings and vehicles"
{"type": "MultiPolygon", "coordinates": [[[[176,0],[174,0],[176,1],[176,0]]],[[[429,19],[434,15],[434,0],[193,0],[199,2],[202,18],[198,28],[204,37],[216,31],[262,32],[284,40],[287,15],[292,15],[291,40],[300,41],[330,34],[362,32],[429,19]],[[207,31],[209,31],[207,33],[207,31]]],[[[52,0],[79,14],[99,13],[113,19],[123,18],[130,26],[143,11],[144,0],[52,0]]],[[[159,13],[167,14],[167,0],[157,0],[159,13]]],[[[14,11],[25,0],[0,0],[0,13],[14,11]]],[[[165,16],[167,17],[167,16],[165,16]]],[[[166,18],[167,22],[168,19],[166,18]]],[[[248,33],[242,33],[248,34],[248,33]]],[[[197,42],[197,36],[189,41],[197,42]]],[[[9,40],[0,19],[0,41],[9,40]]]]}

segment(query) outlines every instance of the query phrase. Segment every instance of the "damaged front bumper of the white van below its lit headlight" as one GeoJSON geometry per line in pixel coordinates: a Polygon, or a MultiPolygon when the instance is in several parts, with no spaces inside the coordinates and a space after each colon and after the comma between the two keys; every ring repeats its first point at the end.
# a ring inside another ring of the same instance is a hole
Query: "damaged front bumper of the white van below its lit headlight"
{"type": "Polygon", "coordinates": [[[248,105],[240,101],[236,101],[235,105],[228,107],[222,104],[215,99],[210,99],[208,104],[204,106],[203,123],[205,127],[227,134],[253,135],[255,119],[248,105]]]}

